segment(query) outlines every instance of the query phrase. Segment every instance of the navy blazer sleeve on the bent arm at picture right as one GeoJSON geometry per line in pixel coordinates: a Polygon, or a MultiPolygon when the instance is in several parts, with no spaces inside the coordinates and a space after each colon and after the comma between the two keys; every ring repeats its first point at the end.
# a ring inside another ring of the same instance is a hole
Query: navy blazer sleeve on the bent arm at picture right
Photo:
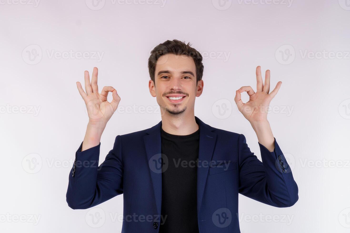
{"type": "Polygon", "coordinates": [[[298,187],[276,138],[274,145],[270,152],[259,143],[261,162],[250,151],[244,135],[239,135],[239,193],[268,205],[289,207],[299,199],[298,187]]]}

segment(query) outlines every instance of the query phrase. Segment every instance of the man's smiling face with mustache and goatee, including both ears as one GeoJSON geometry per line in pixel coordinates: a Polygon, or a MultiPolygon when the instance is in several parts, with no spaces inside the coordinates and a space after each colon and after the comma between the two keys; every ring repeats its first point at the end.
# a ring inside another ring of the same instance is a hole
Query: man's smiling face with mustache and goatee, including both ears
{"type": "MultiPolygon", "coordinates": [[[[162,55],[155,67],[155,86],[149,80],[149,90],[161,111],[180,115],[186,110],[194,111],[195,97],[203,90],[203,81],[196,85],[196,65],[186,55],[168,53],[162,55]]],[[[162,112],[163,113],[163,112],[162,112]]]]}

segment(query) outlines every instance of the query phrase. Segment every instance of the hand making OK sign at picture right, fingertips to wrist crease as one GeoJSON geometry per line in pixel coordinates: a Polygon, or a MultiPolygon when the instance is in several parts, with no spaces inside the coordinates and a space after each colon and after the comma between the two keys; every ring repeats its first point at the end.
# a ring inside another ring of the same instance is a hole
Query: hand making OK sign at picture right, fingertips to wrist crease
{"type": "Polygon", "coordinates": [[[261,77],[261,67],[258,66],[256,70],[257,75],[257,92],[254,92],[251,86],[243,86],[236,90],[235,102],[238,110],[250,122],[264,122],[267,121],[267,110],[272,98],[277,94],[282,84],[279,81],[271,93],[270,90],[270,71],[265,73],[265,84],[263,85],[261,77]],[[247,92],[249,101],[243,103],[241,100],[241,92],[247,92]]]}

